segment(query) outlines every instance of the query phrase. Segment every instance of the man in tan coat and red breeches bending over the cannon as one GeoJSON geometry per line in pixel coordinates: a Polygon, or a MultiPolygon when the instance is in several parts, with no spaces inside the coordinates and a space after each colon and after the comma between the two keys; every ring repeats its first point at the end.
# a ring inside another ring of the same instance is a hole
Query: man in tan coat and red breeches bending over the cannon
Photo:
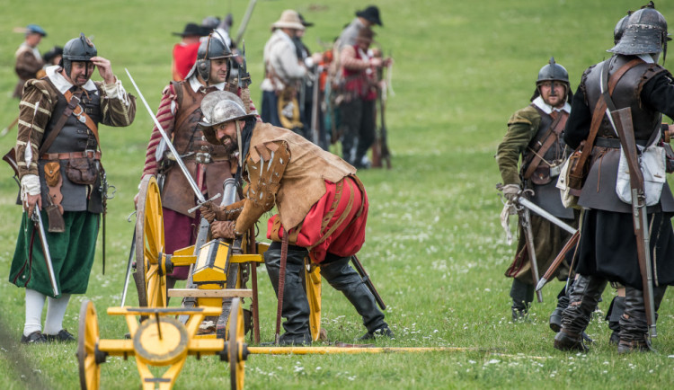
{"type": "Polygon", "coordinates": [[[264,262],[274,290],[279,293],[281,252],[288,245],[281,344],[311,342],[309,304],[302,286],[305,258],[320,264],[321,275],[347,297],[368,332],[363,339],[393,337],[377,308],[375,297],[350,256],[365,242],[368,197],[356,169],[336,155],[288,130],[255,123],[238,100],[221,100],[204,107],[201,123],[209,142],[240,150],[237,176],[248,185],[245,199],[226,208],[207,203],[201,213],[215,238],[235,238],[248,231],[274,206],[267,238],[272,241],[264,262]]]}

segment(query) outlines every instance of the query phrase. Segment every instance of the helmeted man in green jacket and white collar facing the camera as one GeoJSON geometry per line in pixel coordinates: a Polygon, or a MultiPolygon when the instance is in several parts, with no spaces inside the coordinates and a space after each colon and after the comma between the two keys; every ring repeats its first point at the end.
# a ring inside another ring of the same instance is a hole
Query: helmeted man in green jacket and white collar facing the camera
{"type": "MultiPolygon", "coordinates": [[[[567,155],[563,141],[563,129],[571,111],[572,92],[566,69],[554,62],[543,66],[538,72],[536,91],[531,103],[516,111],[508,120],[508,131],[498,146],[496,162],[503,180],[503,195],[509,201],[517,199],[520,191],[533,190],[531,201],[545,211],[578,226],[572,208],[564,208],[559,190],[555,187],[560,164],[567,155]],[[518,167],[521,156],[521,164],[518,167]]],[[[520,321],[528,314],[534,300],[537,280],[532,278],[531,264],[527,253],[526,232],[519,225],[519,241],[515,261],[506,270],[512,279],[512,321],[520,321]]],[[[543,217],[531,215],[534,246],[538,270],[547,270],[554,258],[570,238],[570,234],[543,217]]],[[[558,279],[566,279],[568,264],[557,270],[558,279]]],[[[561,310],[568,299],[564,291],[559,295],[558,309],[551,316],[551,328],[560,327],[561,310]]]]}

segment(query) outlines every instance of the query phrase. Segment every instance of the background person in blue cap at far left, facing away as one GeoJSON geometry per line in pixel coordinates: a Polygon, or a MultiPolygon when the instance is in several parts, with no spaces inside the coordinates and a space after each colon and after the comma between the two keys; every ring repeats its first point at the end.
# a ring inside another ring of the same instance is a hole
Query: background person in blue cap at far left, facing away
{"type": "Polygon", "coordinates": [[[44,66],[44,60],[40,56],[38,45],[40,45],[40,40],[47,36],[47,31],[44,31],[37,24],[29,24],[26,26],[25,31],[25,40],[23,40],[19,49],[16,50],[16,53],[14,53],[14,58],[16,58],[14,71],[19,76],[19,81],[12,95],[14,98],[21,98],[23,84],[31,78],[35,78],[38,75],[38,71],[44,66]]]}

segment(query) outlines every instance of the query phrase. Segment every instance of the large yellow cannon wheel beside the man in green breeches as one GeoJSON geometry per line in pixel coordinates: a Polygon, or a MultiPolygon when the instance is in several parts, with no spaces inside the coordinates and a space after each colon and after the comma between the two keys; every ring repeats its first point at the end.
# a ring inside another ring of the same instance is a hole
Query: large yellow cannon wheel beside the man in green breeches
{"type": "Polygon", "coordinates": [[[136,215],[136,275],[138,304],[166,306],[166,275],[163,267],[164,215],[155,176],[140,182],[136,215]]]}

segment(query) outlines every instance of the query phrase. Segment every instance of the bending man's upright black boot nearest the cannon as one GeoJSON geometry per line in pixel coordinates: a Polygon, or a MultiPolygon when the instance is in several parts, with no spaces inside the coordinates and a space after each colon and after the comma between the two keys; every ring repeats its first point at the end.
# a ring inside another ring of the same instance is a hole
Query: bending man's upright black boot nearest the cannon
{"type": "MultiPolygon", "coordinates": [[[[302,286],[301,273],[304,271],[306,249],[290,245],[286,262],[286,283],[283,288],[283,307],[281,315],[286,321],[280,336],[280,345],[311,344],[309,331],[309,302],[302,286]]],[[[264,253],[264,264],[267,267],[271,286],[279,296],[280,244],[273,243],[264,253]],[[278,245],[277,245],[278,244],[278,245]]]]}

